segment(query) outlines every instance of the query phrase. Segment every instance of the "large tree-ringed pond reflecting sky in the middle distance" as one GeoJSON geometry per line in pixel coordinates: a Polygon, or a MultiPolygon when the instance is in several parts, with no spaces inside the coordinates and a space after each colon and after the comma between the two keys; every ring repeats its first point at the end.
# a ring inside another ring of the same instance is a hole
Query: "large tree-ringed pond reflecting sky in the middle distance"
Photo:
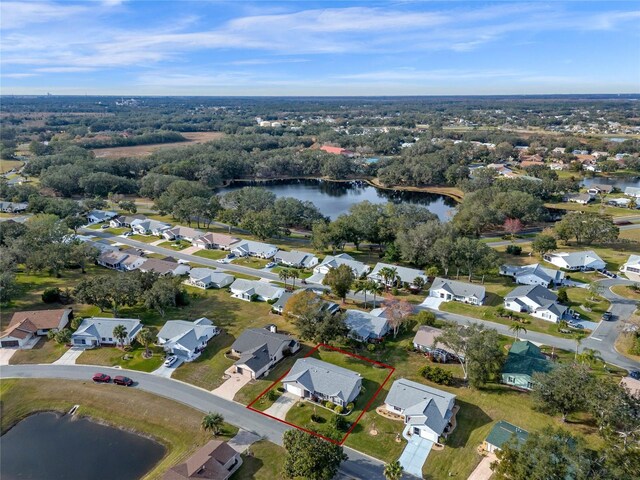
{"type": "Polygon", "coordinates": [[[263,187],[278,197],[293,197],[310,201],[323,215],[334,220],[338,215],[347,213],[351,205],[368,200],[371,203],[412,203],[422,205],[447,221],[455,213],[455,200],[445,196],[426,192],[404,190],[383,190],[364,182],[331,182],[323,180],[274,180],[268,182],[234,182],[219,189],[224,194],[242,187],[263,187]]]}

